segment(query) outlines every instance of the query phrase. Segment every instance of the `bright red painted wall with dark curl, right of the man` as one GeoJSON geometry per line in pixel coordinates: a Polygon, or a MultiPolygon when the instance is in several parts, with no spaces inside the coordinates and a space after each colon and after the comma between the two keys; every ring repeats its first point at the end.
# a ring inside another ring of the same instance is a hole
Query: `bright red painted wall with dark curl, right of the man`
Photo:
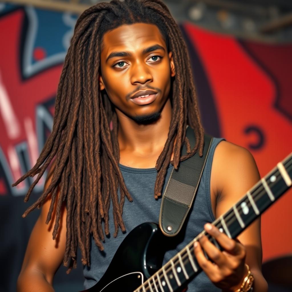
{"type": "MultiPolygon", "coordinates": [[[[190,55],[204,67],[221,136],[249,149],[263,177],[292,150],[292,46],[240,41],[189,23],[184,29],[190,55]]],[[[263,260],[292,253],[291,211],[289,191],[263,214],[263,260]]]]}

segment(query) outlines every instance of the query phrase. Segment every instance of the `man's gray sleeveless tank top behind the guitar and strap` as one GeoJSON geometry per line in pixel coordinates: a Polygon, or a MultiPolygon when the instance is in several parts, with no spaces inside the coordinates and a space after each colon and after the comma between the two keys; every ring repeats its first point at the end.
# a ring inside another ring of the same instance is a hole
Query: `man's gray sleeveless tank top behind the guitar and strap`
{"type": "MultiPolygon", "coordinates": [[[[192,239],[194,239],[194,237],[196,237],[196,235],[204,229],[205,223],[213,222],[215,220],[211,206],[210,176],[214,150],[218,143],[222,140],[224,139],[213,138],[197,195],[190,210],[190,216],[186,225],[185,233],[182,235],[182,239],[179,240],[180,243],[178,246],[175,249],[166,252],[163,264],[175,256],[176,253],[178,253],[192,239]]],[[[172,165],[168,167],[164,189],[172,168],[172,165]]],[[[116,238],[112,235],[110,238],[105,237],[105,242],[103,243],[104,252],[100,252],[98,247],[95,245],[93,238],[91,239],[91,265],[90,267],[84,266],[83,270],[85,277],[85,289],[94,286],[99,281],[107,270],[107,267],[109,266],[115,252],[128,232],[144,222],[159,222],[161,199],[154,199],[154,184],[157,175],[156,169],[131,168],[121,164],[120,169],[124,177],[126,187],[133,198],[133,202],[131,203],[125,198],[123,209],[123,220],[127,232],[123,234],[121,230],[119,230],[116,238]]],[[[113,234],[114,223],[111,218],[111,214],[112,204],[109,209],[109,231],[113,234]]],[[[178,236],[180,236],[180,234],[178,236]]],[[[201,272],[193,279],[192,282],[190,282],[188,285],[188,291],[219,292],[221,290],[213,285],[204,272],[201,272]]]]}

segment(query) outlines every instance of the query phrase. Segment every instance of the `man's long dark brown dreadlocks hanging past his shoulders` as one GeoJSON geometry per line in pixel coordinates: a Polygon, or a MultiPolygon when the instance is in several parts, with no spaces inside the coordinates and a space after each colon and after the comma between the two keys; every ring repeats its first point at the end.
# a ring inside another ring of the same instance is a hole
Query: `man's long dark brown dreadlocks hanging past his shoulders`
{"type": "Polygon", "coordinates": [[[16,186],[28,176],[38,174],[25,196],[24,201],[27,202],[34,186],[55,157],[57,164],[50,185],[23,217],[40,207],[51,194],[46,223],[50,222],[56,204],[55,239],[65,201],[67,234],[64,265],[69,266],[67,272],[76,267],[77,245],[81,250],[82,263],[89,266],[91,235],[98,248],[103,250],[104,233],[109,234],[110,202],[113,205],[114,237],[119,227],[125,231],[122,219],[124,201],[125,197],[129,201],[132,198],[119,169],[117,115],[107,94],[99,90],[98,74],[103,34],[120,25],[137,22],[157,25],[168,49],[173,53],[176,70],[172,83],[172,120],[164,149],[156,163],[154,198],[161,196],[170,162],[178,168],[180,161],[195,152],[199,151],[199,155],[202,155],[204,130],[187,47],[166,5],[161,0],[113,0],[110,3],[98,3],[84,11],[75,25],[60,77],[52,133],[34,167],[13,184],[16,186]],[[187,124],[194,129],[196,136],[193,149],[185,137],[187,124]],[[181,156],[184,142],[187,154],[181,156]],[[170,161],[172,151],[174,157],[170,161]]]}

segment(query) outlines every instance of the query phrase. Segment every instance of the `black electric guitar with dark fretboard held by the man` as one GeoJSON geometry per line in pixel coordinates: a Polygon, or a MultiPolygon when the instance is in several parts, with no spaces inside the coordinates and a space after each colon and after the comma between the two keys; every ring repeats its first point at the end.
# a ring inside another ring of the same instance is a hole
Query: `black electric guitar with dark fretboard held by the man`
{"type": "MultiPolygon", "coordinates": [[[[291,187],[291,180],[292,153],[212,224],[228,237],[236,238],[291,187]]],[[[100,281],[84,291],[182,291],[201,272],[194,256],[193,244],[202,234],[222,250],[213,237],[202,231],[162,266],[164,242],[169,241],[170,237],[163,235],[156,223],[143,223],[135,227],[123,240],[100,281]],[[158,250],[159,247],[161,250],[158,250]]]]}

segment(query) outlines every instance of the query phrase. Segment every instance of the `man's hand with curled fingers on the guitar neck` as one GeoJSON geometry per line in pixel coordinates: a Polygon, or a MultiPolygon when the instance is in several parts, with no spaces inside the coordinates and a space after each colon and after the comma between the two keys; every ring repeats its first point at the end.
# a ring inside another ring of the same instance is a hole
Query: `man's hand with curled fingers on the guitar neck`
{"type": "Polygon", "coordinates": [[[247,274],[245,247],[239,241],[227,237],[210,223],[205,224],[204,228],[217,240],[224,251],[220,251],[205,235],[202,236],[199,242],[194,243],[194,253],[200,267],[215,286],[223,291],[236,291],[247,274]],[[202,248],[214,263],[206,259],[202,248]]]}

